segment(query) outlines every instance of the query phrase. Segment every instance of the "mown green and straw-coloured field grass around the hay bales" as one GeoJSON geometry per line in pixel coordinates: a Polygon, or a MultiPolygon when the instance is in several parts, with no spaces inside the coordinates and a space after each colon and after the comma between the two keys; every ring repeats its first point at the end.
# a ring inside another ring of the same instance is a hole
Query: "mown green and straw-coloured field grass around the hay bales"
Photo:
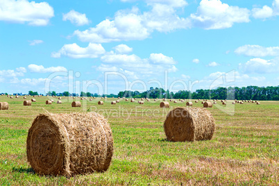
{"type": "MultiPolygon", "coordinates": [[[[160,101],[94,100],[71,108],[72,99],[52,105],[45,105],[46,97],[35,99],[23,106],[22,96],[0,96],[10,107],[0,110],[0,185],[279,185],[279,101],[237,104],[235,115],[208,108],[216,120],[212,140],[168,142],[163,123],[171,108],[159,108],[160,101]],[[71,178],[35,174],[26,160],[26,137],[33,119],[46,110],[102,113],[114,137],[108,171],[71,178]]],[[[193,104],[202,107],[201,101],[193,104]]]]}

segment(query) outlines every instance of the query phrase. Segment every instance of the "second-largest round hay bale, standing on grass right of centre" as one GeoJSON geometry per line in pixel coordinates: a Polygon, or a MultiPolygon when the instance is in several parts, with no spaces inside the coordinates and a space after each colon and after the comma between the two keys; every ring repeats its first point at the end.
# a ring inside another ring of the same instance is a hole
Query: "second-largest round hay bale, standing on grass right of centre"
{"type": "Polygon", "coordinates": [[[175,108],[164,121],[164,133],[171,142],[211,140],[214,118],[205,108],[175,108]]]}

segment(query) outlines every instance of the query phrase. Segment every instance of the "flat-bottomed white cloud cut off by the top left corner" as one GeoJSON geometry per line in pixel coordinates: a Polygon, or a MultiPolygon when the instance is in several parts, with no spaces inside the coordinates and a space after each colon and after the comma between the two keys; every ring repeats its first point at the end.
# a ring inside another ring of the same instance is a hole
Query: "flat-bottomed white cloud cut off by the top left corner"
{"type": "Polygon", "coordinates": [[[33,26],[46,26],[54,11],[49,3],[35,3],[26,0],[1,0],[0,21],[24,24],[28,22],[33,26]]]}

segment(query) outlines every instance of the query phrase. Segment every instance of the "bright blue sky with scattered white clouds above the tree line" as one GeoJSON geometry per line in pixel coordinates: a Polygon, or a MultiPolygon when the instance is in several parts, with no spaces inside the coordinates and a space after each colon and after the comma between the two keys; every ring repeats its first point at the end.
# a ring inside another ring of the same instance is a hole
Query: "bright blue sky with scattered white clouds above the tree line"
{"type": "Polygon", "coordinates": [[[0,0],[0,92],[277,86],[279,0],[0,0]]]}

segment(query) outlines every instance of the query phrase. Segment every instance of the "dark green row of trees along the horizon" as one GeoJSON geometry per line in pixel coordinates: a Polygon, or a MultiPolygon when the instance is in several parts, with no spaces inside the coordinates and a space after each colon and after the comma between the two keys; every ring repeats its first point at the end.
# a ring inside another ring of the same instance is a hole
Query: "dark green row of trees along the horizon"
{"type": "MultiPolygon", "coordinates": [[[[7,93],[1,93],[7,94],[7,93]]],[[[15,93],[17,95],[22,95],[22,93],[15,93]]],[[[14,94],[14,95],[15,95],[14,94]]],[[[31,96],[39,95],[37,92],[29,91],[28,94],[31,96]]],[[[42,94],[41,94],[42,95],[42,94]]],[[[107,97],[133,97],[133,98],[166,98],[166,99],[252,99],[252,100],[274,100],[279,101],[279,86],[277,87],[257,87],[257,86],[248,86],[248,87],[218,87],[214,90],[196,90],[191,92],[188,90],[180,90],[176,93],[169,92],[169,90],[164,90],[162,88],[153,88],[150,87],[150,90],[145,92],[138,91],[121,91],[118,94],[92,94],[90,92],[81,92],[81,94],[62,92],[56,93],[48,92],[47,96],[107,96],[107,97]]]]}

